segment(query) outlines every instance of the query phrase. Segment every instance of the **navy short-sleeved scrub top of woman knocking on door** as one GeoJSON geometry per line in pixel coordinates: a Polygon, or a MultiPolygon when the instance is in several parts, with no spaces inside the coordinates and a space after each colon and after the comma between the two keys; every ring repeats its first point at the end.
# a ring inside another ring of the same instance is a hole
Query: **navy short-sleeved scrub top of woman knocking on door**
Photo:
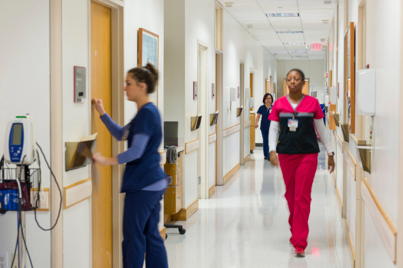
{"type": "Polygon", "coordinates": [[[130,122],[127,137],[130,147],[133,136],[146,134],[150,137],[143,155],[126,163],[121,193],[136,192],[166,177],[160,167],[158,147],[162,140],[161,117],[152,103],[144,105],[130,122]]]}

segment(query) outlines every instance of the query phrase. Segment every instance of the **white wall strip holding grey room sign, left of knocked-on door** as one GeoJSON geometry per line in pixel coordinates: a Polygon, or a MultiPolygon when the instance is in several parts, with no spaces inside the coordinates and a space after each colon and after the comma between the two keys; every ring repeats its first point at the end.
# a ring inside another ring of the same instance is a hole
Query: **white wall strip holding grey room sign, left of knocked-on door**
{"type": "MultiPolygon", "coordinates": [[[[90,102],[74,103],[74,66],[89,67],[88,20],[89,6],[85,1],[62,2],[62,94],[63,94],[63,145],[67,141],[80,140],[91,134],[90,102]]],[[[87,79],[89,88],[89,79],[87,79]]],[[[87,97],[91,96],[87,91],[87,97]]],[[[63,146],[62,145],[62,146],[63,146]]],[[[64,150],[63,150],[64,151],[64,150]]],[[[64,154],[63,154],[64,163],[64,154]]],[[[64,171],[63,187],[91,177],[90,166],[64,171]]],[[[91,258],[91,203],[85,200],[79,205],[63,210],[63,266],[84,267],[91,258]],[[86,254],[82,254],[86,252],[86,254]]]]}

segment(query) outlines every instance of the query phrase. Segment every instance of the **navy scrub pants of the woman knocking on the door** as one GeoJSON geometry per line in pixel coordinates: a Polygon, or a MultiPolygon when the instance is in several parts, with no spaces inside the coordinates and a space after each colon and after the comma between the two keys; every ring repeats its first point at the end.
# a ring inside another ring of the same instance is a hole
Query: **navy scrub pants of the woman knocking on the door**
{"type": "Polygon", "coordinates": [[[126,193],[123,209],[122,255],[124,268],[168,267],[164,240],[158,230],[162,191],[126,193]]]}

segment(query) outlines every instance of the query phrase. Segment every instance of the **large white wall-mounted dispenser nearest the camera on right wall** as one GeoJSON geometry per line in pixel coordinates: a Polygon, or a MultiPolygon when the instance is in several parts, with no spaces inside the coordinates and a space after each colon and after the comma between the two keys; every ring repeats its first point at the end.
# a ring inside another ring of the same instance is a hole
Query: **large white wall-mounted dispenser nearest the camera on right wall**
{"type": "Polygon", "coordinates": [[[357,113],[375,115],[375,69],[363,69],[357,72],[357,113]]]}

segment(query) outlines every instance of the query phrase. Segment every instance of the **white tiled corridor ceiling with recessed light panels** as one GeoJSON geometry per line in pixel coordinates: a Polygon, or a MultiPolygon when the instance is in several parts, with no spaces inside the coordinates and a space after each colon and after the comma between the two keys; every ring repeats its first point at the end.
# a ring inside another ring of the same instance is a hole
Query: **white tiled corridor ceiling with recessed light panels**
{"type": "Polygon", "coordinates": [[[326,45],[337,0],[219,0],[219,2],[278,60],[324,59],[325,49],[321,52],[311,51],[311,45],[314,43],[326,45]],[[265,15],[273,13],[298,13],[299,17],[265,15]],[[278,33],[280,31],[302,31],[302,33],[278,33]]]}

